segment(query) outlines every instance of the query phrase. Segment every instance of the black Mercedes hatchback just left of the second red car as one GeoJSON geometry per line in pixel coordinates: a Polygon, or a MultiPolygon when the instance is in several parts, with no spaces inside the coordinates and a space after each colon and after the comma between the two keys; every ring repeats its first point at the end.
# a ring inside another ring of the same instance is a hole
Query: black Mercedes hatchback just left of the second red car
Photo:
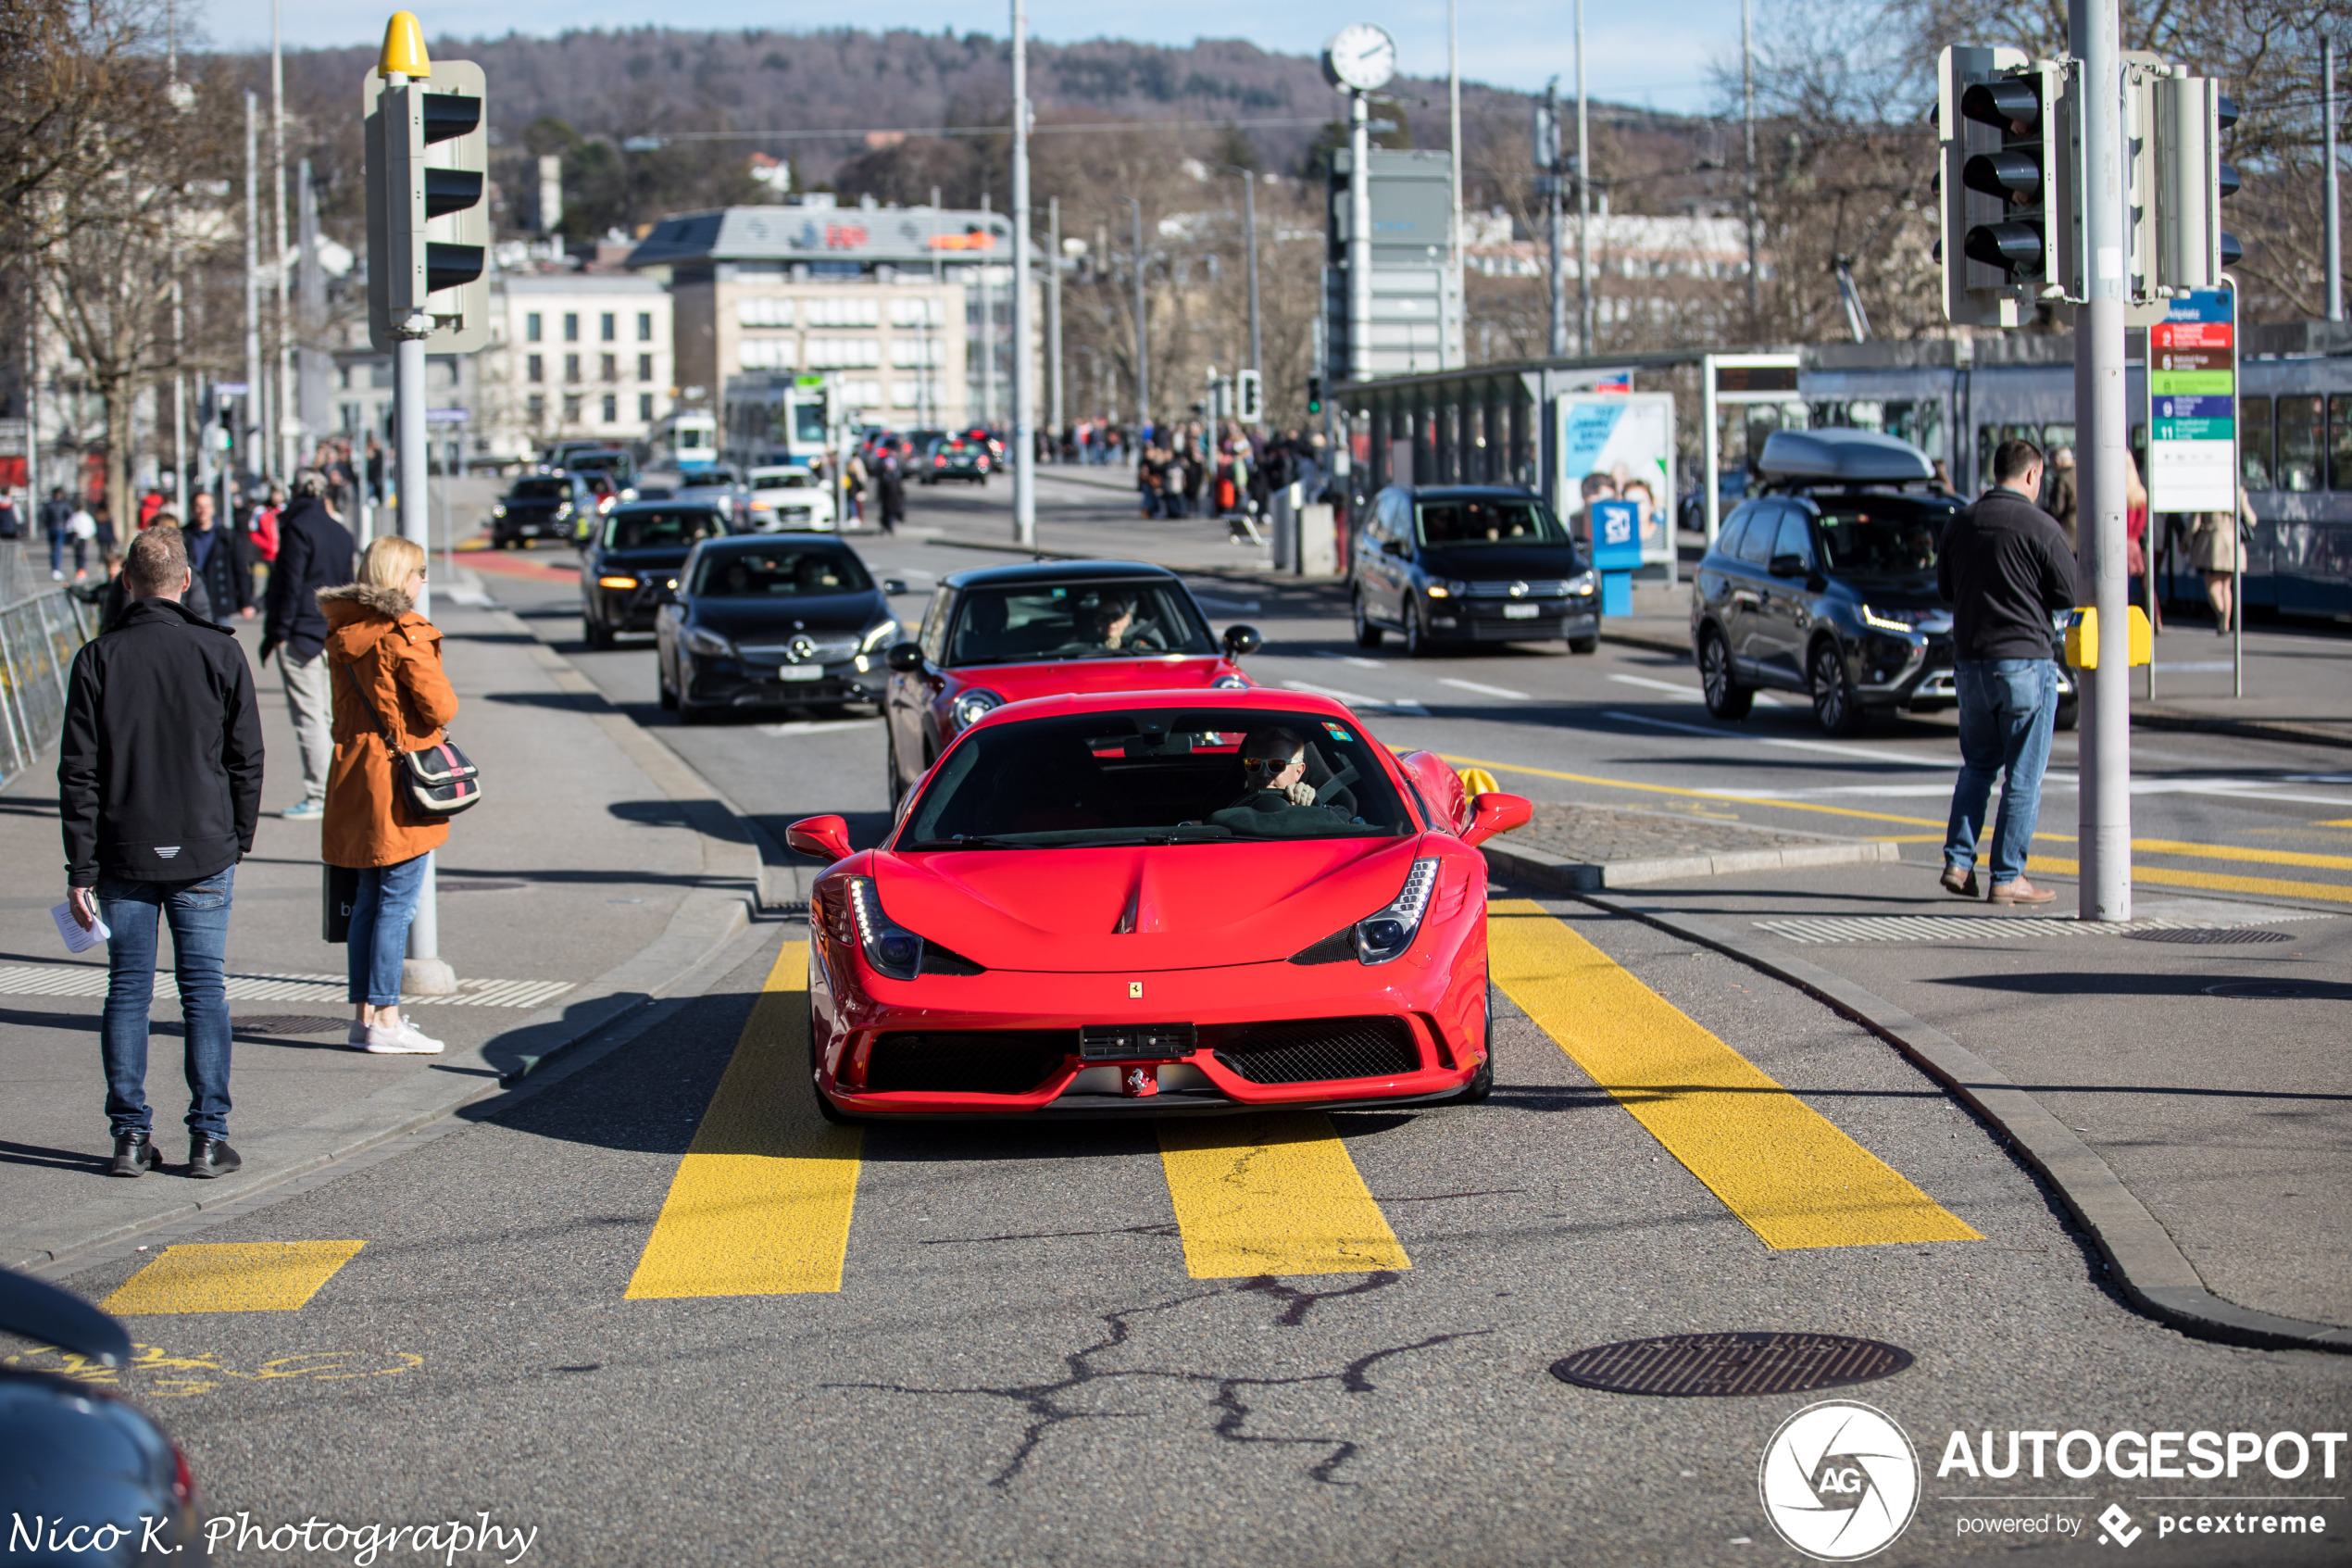
{"type": "Polygon", "coordinates": [[[706,538],[654,621],[661,705],[687,724],[779,703],[880,710],[901,635],[884,592],[906,583],[875,583],[828,534],[706,538]]]}

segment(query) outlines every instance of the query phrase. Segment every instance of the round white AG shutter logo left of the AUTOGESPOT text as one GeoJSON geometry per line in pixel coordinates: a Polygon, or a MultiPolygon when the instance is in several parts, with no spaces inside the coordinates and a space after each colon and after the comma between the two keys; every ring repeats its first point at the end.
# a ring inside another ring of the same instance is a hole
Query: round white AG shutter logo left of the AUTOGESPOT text
{"type": "Polygon", "coordinates": [[[1910,1526],[1919,1453],[1884,1410],[1825,1399],[1790,1415],[1764,1443],[1757,1490],[1790,1547],[1823,1563],[1856,1563],[1910,1526]]]}

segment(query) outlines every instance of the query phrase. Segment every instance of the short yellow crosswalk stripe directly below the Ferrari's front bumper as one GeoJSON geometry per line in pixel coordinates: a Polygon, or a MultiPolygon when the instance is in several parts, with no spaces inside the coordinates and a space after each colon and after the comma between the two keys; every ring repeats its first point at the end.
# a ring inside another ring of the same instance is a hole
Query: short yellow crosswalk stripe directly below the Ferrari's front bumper
{"type": "Polygon", "coordinates": [[[1164,1117],[1160,1164],[1192,1279],[1414,1267],[1322,1112],[1164,1117]]]}

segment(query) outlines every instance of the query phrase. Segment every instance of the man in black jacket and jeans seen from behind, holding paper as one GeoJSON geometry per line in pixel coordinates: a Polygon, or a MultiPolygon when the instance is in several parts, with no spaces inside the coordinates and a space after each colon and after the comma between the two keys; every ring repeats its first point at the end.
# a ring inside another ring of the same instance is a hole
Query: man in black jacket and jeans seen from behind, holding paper
{"type": "Polygon", "coordinates": [[[122,564],[122,625],[73,656],[56,755],[66,903],[85,931],[108,926],[106,1117],[113,1175],[162,1164],[146,1103],[155,922],[172,922],[188,1041],[188,1175],[242,1161],[228,1147],[223,961],[238,860],[261,816],[261,712],[245,649],[181,607],[188,548],[148,529],[122,564]]]}

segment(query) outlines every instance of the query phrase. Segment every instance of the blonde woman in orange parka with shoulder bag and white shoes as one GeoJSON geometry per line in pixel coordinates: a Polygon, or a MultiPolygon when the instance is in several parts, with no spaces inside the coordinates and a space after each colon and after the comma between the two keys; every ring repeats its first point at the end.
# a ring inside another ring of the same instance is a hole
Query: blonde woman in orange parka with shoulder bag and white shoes
{"type": "Polygon", "coordinates": [[[334,682],[334,766],[320,858],[360,872],[350,905],[350,1046],[379,1056],[433,1056],[442,1041],[400,1016],[400,959],[423,891],[426,856],[449,823],[407,802],[393,748],[440,741],[456,691],[440,668],[440,632],[416,614],[426,552],[409,538],[367,545],[360,581],[320,588],[334,682]],[[390,743],[386,743],[390,729],[390,743]]]}

